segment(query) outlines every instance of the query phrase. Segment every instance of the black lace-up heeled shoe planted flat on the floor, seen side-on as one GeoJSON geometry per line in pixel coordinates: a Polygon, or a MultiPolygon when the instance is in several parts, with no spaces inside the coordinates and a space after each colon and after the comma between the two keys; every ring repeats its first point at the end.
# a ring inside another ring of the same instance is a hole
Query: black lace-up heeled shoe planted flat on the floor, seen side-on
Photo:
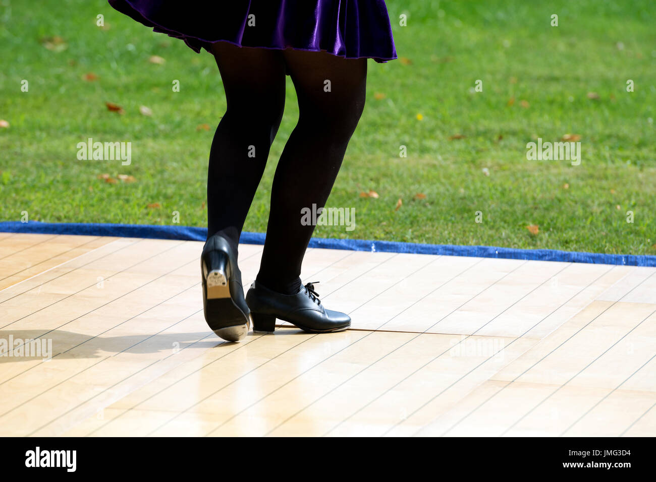
{"type": "Polygon", "coordinates": [[[318,282],[308,283],[297,294],[281,294],[254,282],[246,294],[253,332],[273,332],[276,318],[310,333],[343,331],[350,327],[351,318],[346,313],[323,307],[319,293],[314,291],[315,283],[318,282]]]}

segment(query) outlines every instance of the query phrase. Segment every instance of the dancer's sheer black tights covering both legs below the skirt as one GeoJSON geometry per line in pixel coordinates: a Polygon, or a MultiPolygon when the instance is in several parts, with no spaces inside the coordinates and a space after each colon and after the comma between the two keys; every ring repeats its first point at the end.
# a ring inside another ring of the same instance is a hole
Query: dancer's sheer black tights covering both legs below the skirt
{"type": "Polygon", "coordinates": [[[300,113],[276,167],[257,275],[265,287],[294,294],[314,231],[301,224],[302,209],[323,207],[333,188],[364,108],[367,61],[226,42],[213,53],[228,108],[209,157],[207,235],[221,233],[234,249],[282,119],[285,70],[294,83],[300,113]]]}

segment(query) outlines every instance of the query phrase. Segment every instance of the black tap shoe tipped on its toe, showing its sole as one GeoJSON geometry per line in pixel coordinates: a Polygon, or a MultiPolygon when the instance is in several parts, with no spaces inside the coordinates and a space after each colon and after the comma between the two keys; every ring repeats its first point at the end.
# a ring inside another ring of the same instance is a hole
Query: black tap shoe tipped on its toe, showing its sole
{"type": "Polygon", "coordinates": [[[249,331],[251,313],[241,287],[237,253],[221,235],[213,235],[205,242],[201,273],[207,325],[220,338],[238,342],[249,331]]]}

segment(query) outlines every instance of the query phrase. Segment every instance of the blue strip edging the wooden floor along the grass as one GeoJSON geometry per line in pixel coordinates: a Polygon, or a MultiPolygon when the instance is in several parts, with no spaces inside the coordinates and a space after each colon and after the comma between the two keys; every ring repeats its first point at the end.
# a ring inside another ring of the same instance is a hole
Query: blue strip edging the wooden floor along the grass
{"type": "MultiPolygon", "coordinates": [[[[0,231],[9,233],[69,234],[91,236],[144,237],[205,241],[206,228],[191,226],[153,226],[148,224],[0,222],[0,231]]],[[[241,233],[240,243],[263,245],[264,233],[241,233]]],[[[476,256],[513,260],[562,261],[572,263],[619,264],[623,266],[656,266],[656,256],[647,254],[604,254],[598,252],[559,251],[556,249],[515,249],[495,246],[428,245],[399,241],[367,241],[365,239],[332,239],[313,237],[310,248],[348,249],[351,251],[408,252],[476,256]]]]}

